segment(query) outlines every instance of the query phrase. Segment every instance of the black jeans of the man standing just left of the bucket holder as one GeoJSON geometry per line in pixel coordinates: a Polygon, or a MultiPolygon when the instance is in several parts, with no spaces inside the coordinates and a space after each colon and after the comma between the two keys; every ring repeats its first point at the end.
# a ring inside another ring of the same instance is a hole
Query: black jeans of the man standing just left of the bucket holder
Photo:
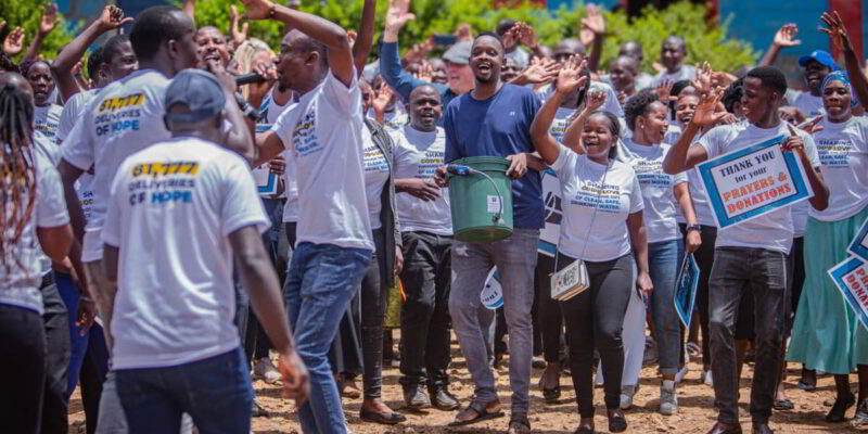
{"type": "Polygon", "coordinates": [[[400,308],[399,382],[405,388],[427,382],[445,387],[449,382],[449,290],[452,238],[429,232],[404,232],[404,270],[407,301],[400,308]]]}

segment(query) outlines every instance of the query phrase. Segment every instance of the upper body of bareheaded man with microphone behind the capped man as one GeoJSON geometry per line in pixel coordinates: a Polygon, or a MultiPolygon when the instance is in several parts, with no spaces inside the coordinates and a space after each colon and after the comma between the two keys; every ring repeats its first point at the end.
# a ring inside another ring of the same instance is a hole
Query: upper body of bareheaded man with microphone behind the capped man
{"type": "MultiPolygon", "coordinates": [[[[163,97],[168,80],[181,69],[199,63],[193,21],[179,9],[155,7],[140,13],[132,24],[130,43],[139,71],[106,86],[82,110],[82,115],[62,143],[58,166],[76,238],[82,242],[81,261],[90,275],[89,284],[104,320],[112,306],[102,303],[106,288],[100,260],[100,231],[105,218],[108,188],[117,167],[127,156],[167,139],[163,123],[163,97]],[[93,167],[93,197],[85,226],[75,181],[93,167]]],[[[250,131],[234,99],[227,99],[227,118],[234,129],[222,140],[239,153],[253,155],[250,131]]]]}

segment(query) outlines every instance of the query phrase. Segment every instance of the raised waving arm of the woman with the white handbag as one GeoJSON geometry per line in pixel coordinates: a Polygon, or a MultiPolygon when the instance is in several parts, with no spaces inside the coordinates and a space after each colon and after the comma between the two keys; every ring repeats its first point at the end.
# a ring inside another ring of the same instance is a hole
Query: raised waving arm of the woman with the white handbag
{"type": "Polygon", "coordinates": [[[579,61],[575,55],[564,63],[560,73],[558,73],[558,86],[554,88],[554,93],[536,112],[534,122],[531,124],[531,139],[534,142],[534,148],[536,148],[546,164],[554,164],[554,161],[558,159],[558,154],[561,152],[560,145],[549,132],[549,128],[551,128],[551,123],[554,120],[554,115],[558,113],[558,107],[561,106],[564,97],[587,84],[588,77],[580,74],[585,66],[585,61],[579,61]]]}

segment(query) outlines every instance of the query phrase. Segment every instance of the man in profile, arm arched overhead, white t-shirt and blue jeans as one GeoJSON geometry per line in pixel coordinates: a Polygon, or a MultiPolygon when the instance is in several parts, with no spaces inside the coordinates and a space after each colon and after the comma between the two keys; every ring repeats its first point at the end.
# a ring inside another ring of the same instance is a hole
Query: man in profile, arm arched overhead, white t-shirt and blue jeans
{"type": "Polygon", "coordinates": [[[279,84],[301,97],[270,131],[257,135],[254,166],[284,150],[295,161],[299,215],[284,293],[311,386],[298,419],[305,433],[344,434],[328,352],[374,250],[353,52],[346,31],[334,23],[268,0],[244,0],[244,5],[250,20],[271,18],[292,28],[275,62],[279,84]]]}

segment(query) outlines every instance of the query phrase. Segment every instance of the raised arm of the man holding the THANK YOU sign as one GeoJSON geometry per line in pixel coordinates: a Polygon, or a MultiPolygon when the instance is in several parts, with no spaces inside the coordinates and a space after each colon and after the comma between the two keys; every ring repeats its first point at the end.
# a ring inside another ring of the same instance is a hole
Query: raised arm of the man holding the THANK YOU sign
{"type": "Polygon", "coordinates": [[[702,127],[714,125],[727,115],[726,112],[715,112],[717,102],[723,95],[724,90],[718,89],[716,92],[702,97],[695,113],[693,113],[693,118],[687,124],[675,145],[666,153],[666,158],[663,159],[663,171],[669,175],[680,174],[709,159],[705,148],[691,146],[691,144],[702,127]]]}

